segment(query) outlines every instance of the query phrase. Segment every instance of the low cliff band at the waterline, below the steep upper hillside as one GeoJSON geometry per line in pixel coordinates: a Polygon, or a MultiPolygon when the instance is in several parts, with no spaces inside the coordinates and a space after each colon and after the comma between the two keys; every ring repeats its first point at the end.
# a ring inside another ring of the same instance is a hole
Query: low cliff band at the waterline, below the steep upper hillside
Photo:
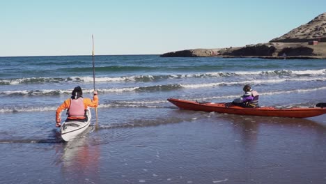
{"type": "Polygon", "coordinates": [[[259,43],[244,47],[185,49],[161,57],[222,57],[260,59],[326,59],[326,43],[259,43]]]}

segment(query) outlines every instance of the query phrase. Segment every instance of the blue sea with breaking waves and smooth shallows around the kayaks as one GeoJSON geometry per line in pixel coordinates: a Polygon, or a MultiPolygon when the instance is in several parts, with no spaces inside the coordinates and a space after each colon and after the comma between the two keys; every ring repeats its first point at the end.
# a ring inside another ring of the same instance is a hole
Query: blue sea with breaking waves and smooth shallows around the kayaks
{"type": "MultiPolygon", "coordinates": [[[[0,183],[326,183],[326,115],[184,111],[167,98],[326,102],[326,60],[95,56],[99,128],[65,143],[56,108],[91,98],[91,56],[0,57],[0,183]]],[[[64,118],[64,116],[63,116],[64,118]]]]}

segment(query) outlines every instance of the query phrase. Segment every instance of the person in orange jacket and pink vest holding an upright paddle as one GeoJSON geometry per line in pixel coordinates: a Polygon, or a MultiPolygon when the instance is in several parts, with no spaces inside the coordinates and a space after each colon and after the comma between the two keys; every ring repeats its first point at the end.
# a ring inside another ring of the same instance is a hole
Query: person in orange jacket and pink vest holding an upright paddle
{"type": "Polygon", "coordinates": [[[71,93],[71,98],[65,100],[56,109],[56,127],[61,127],[61,113],[68,109],[68,117],[66,121],[84,121],[87,117],[85,112],[87,107],[98,107],[98,91],[94,91],[93,100],[90,98],[83,98],[83,91],[80,86],[75,87],[71,93]]]}

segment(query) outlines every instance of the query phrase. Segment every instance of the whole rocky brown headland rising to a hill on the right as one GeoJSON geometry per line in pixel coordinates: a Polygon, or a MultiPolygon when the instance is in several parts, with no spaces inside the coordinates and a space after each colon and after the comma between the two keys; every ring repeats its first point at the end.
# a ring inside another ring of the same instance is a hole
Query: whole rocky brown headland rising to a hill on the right
{"type": "Polygon", "coordinates": [[[167,57],[259,57],[266,59],[326,59],[326,13],[268,43],[217,49],[185,49],[167,57]]]}

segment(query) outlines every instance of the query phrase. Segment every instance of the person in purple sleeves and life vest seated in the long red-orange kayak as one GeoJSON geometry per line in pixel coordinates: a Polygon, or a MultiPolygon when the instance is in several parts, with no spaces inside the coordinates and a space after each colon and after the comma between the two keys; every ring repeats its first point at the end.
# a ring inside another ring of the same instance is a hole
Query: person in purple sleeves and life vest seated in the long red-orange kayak
{"type": "Polygon", "coordinates": [[[236,98],[232,103],[241,107],[258,107],[258,92],[252,90],[251,86],[248,84],[243,87],[243,91],[244,95],[242,95],[240,98],[236,98]]]}

